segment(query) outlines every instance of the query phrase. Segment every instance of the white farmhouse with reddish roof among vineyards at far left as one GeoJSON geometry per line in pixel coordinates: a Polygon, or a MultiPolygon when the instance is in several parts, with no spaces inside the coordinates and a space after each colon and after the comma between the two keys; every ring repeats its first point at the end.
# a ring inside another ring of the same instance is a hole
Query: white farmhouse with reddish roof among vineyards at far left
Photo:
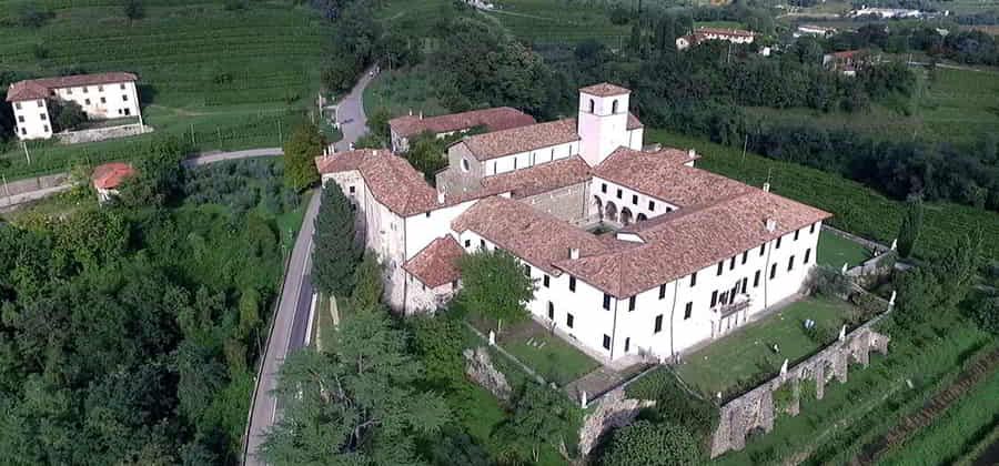
{"type": "Polygon", "coordinates": [[[13,107],[17,134],[21,140],[52,136],[49,100],[77,102],[92,119],[142,115],[139,111],[137,78],[132,73],[112,72],[71,77],[32,79],[10,84],[7,101],[13,107]]]}

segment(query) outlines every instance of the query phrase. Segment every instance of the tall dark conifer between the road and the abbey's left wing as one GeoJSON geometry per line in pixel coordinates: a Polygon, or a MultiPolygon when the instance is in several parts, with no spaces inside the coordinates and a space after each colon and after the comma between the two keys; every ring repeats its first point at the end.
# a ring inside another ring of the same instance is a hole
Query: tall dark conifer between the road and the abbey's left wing
{"type": "Polygon", "coordinates": [[[335,183],[324,186],[322,196],[312,234],[312,281],[322,292],[350,296],[362,253],[354,237],[354,211],[335,183]]]}

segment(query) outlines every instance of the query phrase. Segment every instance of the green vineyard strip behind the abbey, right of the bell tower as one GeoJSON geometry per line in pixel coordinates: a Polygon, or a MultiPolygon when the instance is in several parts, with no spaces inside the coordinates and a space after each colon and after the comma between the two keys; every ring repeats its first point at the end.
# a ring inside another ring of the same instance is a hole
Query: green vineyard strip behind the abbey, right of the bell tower
{"type": "MultiPolygon", "coordinates": [[[[874,190],[835,174],[789,162],[746,154],[737,149],[684,136],[663,130],[648,130],[646,140],[677,148],[696,148],[704,159],[697,165],[759,186],[769,176],[777,194],[831,212],[831,224],[861,236],[891,243],[901,223],[904,205],[874,190]]],[[[999,214],[949,203],[927,204],[917,254],[941,251],[960,234],[981,229],[985,254],[999,260],[999,214]]]]}

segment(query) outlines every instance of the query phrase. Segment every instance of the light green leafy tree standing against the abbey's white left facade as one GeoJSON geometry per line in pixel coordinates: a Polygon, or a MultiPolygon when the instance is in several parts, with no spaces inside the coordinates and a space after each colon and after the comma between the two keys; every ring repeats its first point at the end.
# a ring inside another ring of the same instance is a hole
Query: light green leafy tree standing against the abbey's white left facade
{"type": "Polygon", "coordinates": [[[478,251],[458,260],[462,290],[455,300],[467,311],[494,321],[527,318],[524,303],[534,300],[534,282],[509,253],[478,251]]]}

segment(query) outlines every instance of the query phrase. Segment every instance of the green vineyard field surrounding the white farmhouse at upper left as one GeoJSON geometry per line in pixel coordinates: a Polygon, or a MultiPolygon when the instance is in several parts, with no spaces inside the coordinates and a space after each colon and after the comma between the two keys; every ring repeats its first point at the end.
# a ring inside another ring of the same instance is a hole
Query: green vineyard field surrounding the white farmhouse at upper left
{"type": "MultiPolygon", "coordinates": [[[[0,29],[3,67],[28,77],[64,71],[129,71],[139,75],[145,123],[154,133],[182,135],[199,150],[275,146],[311,108],[329,30],[291,1],[143,1],[130,21],[121,2],[36,1],[51,12],[39,28],[0,29]]],[[[19,14],[4,2],[0,18],[19,14]]],[[[64,170],[133,152],[141,135],[100,144],[29,144],[32,164],[11,144],[9,178],[64,170]]]]}

